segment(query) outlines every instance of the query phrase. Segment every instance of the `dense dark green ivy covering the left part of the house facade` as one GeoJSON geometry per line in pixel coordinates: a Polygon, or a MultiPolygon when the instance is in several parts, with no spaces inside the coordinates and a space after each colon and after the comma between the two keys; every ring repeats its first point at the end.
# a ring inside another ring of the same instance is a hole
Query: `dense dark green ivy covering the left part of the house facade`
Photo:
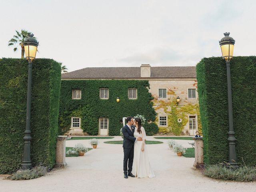
{"type": "MultiPolygon", "coordinates": [[[[147,120],[154,121],[152,95],[148,92],[149,83],[145,80],[62,80],[60,94],[59,134],[70,130],[71,117],[81,118],[81,127],[90,135],[97,135],[99,118],[109,119],[109,135],[120,135],[122,118],[144,115],[147,120]],[[100,88],[109,89],[109,99],[100,99],[100,88]],[[137,88],[138,98],[128,99],[128,88],[137,88]],[[82,98],[72,100],[72,89],[80,89],[82,98]],[[116,97],[120,102],[116,102],[116,97]]],[[[158,132],[154,123],[144,125],[146,133],[158,132]]]]}

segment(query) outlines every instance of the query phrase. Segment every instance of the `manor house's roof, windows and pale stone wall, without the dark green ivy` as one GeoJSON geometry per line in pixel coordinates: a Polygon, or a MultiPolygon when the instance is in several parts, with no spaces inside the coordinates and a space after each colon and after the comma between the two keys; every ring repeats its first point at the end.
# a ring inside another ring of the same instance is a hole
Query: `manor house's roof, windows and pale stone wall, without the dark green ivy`
{"type": "MultiPolygon", "coordinates": [[[[183,124],[182,135],[195,135],[198,130],[198,93],[195,66],[164,66],[153,67],[150,64],[142,64],[140,67],[100,67],[83,68],[73,72],[62,74],[62,80],[148,80],[149,92],[154,99],[153,108],[157,116],[155,123],[159,132],[172,133],[173,121],[183,124]],[[179,98],[179,100],[177,99],[179,98]],[[188,110],[188,107],[190,106],[188,110]],[[184,108],[184,110],[183,110],[184,108]],[[191,109],[192,108],[192,109],[191,109]],[[183,111],[182,111],[183,110],[183,111]],[[175,116],[174,112],[178,112],[175,116]]],[[[108,99],[108,88],[98,89],[97,97],[108,99]]],[[[80,99],[81,90],[72,90],[70,99],[80,99]]],[[[140,92],[136,88],[127,90],[128,99],[137,99],[140,92]]],[[[120,101],[122,102],[122,101],[120,101]]],[[[81,118],[71,117],[70,128],[73,135],[79,135],[81,118]]],[[[108,119],[99,119],[99,135],[108,135],[108,119]]]]}

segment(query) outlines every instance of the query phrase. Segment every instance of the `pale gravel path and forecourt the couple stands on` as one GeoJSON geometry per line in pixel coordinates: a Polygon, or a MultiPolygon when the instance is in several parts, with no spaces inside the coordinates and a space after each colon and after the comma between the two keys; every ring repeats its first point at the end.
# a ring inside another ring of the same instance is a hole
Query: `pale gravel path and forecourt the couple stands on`
{"type": "MultiPolygon", "coordinates": [[[[67,157],[65,169],[54,169],[44,177],[34,180],[10,181],[0,178],[0,192],[254,192],[256,182],[224,182],[203,176],[193,170],[194,158],[178,157],[163,144],[148,145],[151,166],[156,178],[123,178],[123,150],[120,144],[105,144],[100,139],[97,149],[83,157],[67,157]]],[[[156,140],[152,136],[147,140],[156,140]]],[[[184,147],[191,147],[188,140],[176,140],[184,147]]],[[[70,140],[66,146],[76,143],[90,147],[88,140],[70,140]]]]}

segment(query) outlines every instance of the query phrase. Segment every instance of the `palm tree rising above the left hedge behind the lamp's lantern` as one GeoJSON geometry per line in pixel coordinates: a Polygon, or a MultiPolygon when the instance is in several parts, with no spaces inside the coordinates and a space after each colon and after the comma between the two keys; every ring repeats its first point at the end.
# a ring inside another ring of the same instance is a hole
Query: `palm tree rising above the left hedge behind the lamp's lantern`
{"type": "MultiPolygon", "coordinates": [[[[18,32],[17,30],[15,30],[15,31],[16,31],[16,35],[14,35],[13,38],[9,41],[8,46],[19,44],[21,46],[21,58],[23,59],[24,58],[24,52],[25,52],[23,43],[24,43],[24,40],[28,37],[28,35],[31,32],[28,32],[28,31],[23,30],[23,29],[21,30],[21,32],[18,32]]],[[[17,51],[18,46],[16,46],[13,50],[17,51]]]]}

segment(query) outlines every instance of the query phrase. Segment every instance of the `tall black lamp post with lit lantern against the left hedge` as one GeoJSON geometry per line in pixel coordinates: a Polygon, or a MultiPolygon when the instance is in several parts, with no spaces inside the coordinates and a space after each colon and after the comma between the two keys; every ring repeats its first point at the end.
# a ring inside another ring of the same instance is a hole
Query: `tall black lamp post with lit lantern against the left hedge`
{"type": "Polygon", "coordinates": [[[28,92],[27,92],[27,115],[26,115],[26,130],[24,136],[24,152],[22,158],[21,168],[22,170],[29,170],[32,168],[32,162],[30,158],[30,143],[31,143],[31,130],[30,130],[30,114],[31,114],[31,85],[32,85],[32,61],[36,58],[36,50],[38,42],[33,38],[33,34],[30,34],[28,38],[24,40],[24,48],[26,59],[28,60],[28,92]]]}

